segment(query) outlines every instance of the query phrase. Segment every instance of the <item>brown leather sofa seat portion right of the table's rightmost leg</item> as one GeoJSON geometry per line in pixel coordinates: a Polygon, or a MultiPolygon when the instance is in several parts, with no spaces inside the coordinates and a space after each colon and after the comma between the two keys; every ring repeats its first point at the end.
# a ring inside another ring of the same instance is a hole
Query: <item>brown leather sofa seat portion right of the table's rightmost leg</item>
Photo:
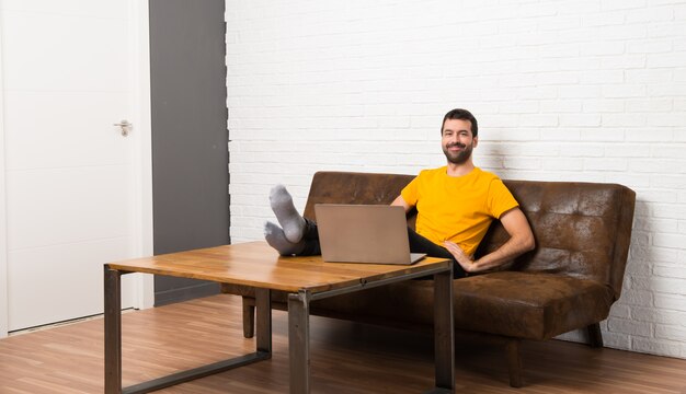
{"type": "Polygon", "coordinates": [[[554,274],[500,271],[455,280],[454,289],[458,328],[528,339],[597,323],[613,303],[609,286],[554,274]]]}

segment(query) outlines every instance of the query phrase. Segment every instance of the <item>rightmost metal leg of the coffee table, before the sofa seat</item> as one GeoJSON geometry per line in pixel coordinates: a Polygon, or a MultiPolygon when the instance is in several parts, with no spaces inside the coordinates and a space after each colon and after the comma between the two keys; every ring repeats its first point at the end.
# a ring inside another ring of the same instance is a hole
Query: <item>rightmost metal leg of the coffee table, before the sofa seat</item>
{"type": "Polygon", "coordinates": [[[434,275],[434,347],[436,389],[455,390],[453,273],[434,275]]]}

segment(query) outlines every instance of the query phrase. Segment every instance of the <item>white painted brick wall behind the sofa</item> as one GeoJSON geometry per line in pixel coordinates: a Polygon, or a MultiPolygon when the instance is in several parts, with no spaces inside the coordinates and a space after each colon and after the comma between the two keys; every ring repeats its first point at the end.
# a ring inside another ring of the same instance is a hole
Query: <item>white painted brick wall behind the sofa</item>
{"type": "Polygon", "coordinates": [[[442,165],[466,107],[503,178],[637,192],[605,343],[686,358],[685,43],[685,1],[227,0],[233,242],[262,237],[273,184],[302,208],[318,170],[442,165]]]}

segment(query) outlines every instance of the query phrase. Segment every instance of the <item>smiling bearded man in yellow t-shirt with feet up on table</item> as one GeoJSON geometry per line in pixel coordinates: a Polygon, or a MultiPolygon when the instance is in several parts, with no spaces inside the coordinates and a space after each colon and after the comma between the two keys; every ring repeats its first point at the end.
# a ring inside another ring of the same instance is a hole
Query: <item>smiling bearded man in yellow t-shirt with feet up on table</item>
{"type": "MultiPolygon", "coordinates": [[[[472,150],[479,143],[475,116],[467,109],[448,112],[441,136],[447,164],[422,171],[391,204],[405,212],[416,208],[415,231],[408,229],[410,250],[451,258],[457,263],[456,278],[495,268],[533,250],[534,234],[518,202],[496,175],[473,164],[472,150]],[[510,239],[475,259],[493,219],[500,219],[510,239]]],[[[267,243],[282,255],[319,254],[317,224],[298,213],[285,187],[275,186],[270,202],[282,228],[265,224],[267,243]]]]}

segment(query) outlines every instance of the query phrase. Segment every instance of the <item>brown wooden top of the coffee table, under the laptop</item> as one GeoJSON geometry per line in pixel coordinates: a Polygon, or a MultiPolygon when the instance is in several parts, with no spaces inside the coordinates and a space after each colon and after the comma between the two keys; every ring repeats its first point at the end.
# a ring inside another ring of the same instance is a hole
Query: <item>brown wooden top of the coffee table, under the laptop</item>
{"type": "Polygon", "coordinates": [[[445,258],[425,257],[413,265],[325,263],[321,256],[284,257],[266,242],[170,253],[106,264],[121,271],[213,280],[254,288],[312,293],[335,290],[362,281],[395,278],[448,267],[445,258]]]}

